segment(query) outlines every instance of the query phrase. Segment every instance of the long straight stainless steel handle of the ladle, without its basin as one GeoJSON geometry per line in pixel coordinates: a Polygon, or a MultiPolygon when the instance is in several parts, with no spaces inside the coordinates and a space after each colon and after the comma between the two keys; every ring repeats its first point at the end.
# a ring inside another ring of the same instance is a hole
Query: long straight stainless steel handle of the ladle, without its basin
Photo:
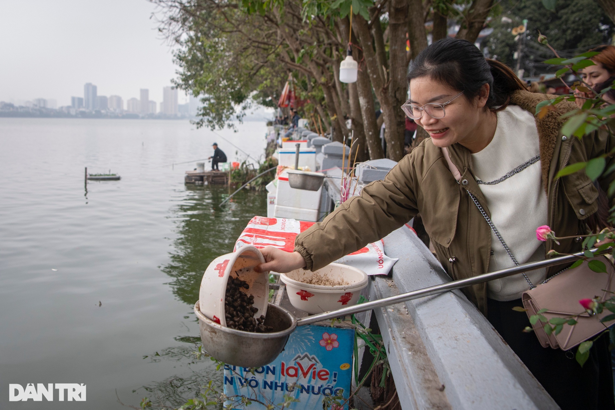
{"type": "MultiPolygon", "coordinates": [[[[610,249],[610,248],[609,248],[610,249]]],[[[590,250],[594,254],[597,254],[597,249],[590,250]]],[[[583,256],[582,252],[566,255],[566,256],[558,256],[557,258],[544,259],[543,261],[538,262],[529,262],[525,264],[521,264],[518,266],[509,267],[507,269],[496,270],[494,272],[489,272],[488,274],[482,274],[475,277],[453,280],[452,282],[442,283],[442,285],[431,286],[429,288],[419,289],[415,291],[411,291],[408,293],[398,294],[396,296],[391,296],[389,298],[378,299],[376,301],[365,302],[359,305],[344,307],[339,310],[332,310],[331,312],[319,313],[317,315],[312,315],[308,317],[304,317],[297,320],[297,326],[303,325],[311,325],[312,323],[316,323],[321,320],[333,319],[336,317],[342,317],[345,315],[352,315],[353,313],[365,312],[366,310],[375,309],[376,307],[384,307],[389,306],[395,303],[411,301],[413,299],[423,298],[424,296],[431,296],[432,294],[443,293],[449,290],[455,290],[459,288],[465,288],[466,286],[476,285],[477,283],[489,282],[490,280],[495,280],[499,278],[505,278],[508,276],[521,274],[522,272],[526,272],[527,270],[536,270],[541,269],[543,267],[555,266],[559,264],[564,264],[566,262],[574,262],[577,259],[581,259],[583,256]]]]}

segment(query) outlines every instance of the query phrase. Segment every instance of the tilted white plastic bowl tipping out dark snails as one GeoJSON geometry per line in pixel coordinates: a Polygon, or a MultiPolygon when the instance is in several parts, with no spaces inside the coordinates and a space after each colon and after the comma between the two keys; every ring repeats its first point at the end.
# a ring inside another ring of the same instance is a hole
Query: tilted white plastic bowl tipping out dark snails
{"type": "Polygon", "coordinates": [[[200,312],[216,323],[226,326],[224,317],[224,296],[229,275],[239,276],[250,288],[245,293],[254,296],[255,317],[267,315],[269,302],[269,272],[257,273],[254,267],[264,263],[260,250],[252,245],[242,246],[234,253],[227,253],[213,259],[200,282],[200,312]],[[237,273],[236,273],[237,272],[237,273]]]}

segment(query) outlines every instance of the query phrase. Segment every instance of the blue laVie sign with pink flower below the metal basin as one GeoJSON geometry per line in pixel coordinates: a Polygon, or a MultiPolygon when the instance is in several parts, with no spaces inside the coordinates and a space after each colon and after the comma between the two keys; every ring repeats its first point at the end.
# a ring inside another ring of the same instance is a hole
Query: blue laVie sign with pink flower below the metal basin
{"type": "Polygon", "coordinates": [[[322,409],[327,396],[343,396],[333,406],[348,409],[352,376],[354,329],[299,326],[280,355],[255,369],[224,366],[225,404],[233,408],[280,406],[292,400],[291,409],[322,409]],[[251,404],[247,404],[250,401],[251,404]]]}

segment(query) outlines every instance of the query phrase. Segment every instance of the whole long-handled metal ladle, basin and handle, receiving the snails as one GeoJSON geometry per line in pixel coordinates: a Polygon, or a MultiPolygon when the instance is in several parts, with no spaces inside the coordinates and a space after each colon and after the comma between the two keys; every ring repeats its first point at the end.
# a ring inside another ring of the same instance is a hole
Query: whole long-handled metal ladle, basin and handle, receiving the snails
{"type": "MultiPolygon", "coordinates": [[[[591,251],[595,255],[598,255],[597,249],[592,249],[591,251]]],[[[299,320],[293,317],[288,310],[270,303],[267,308],[267,317],[264,323],[274,328],[274,332],[272,333],[251,333],[218,325],[218,323],[208,319],[200,312],[198,301],[194,305],[194,313],[196,313],[199,318],[201,341],[205,352],[229,365],[258,368],[268,365],[276,359],[284,349],[288,341],[288,336],[295,331],[296,326],[312,325],[312,323],[317,323],[319,321],[352,315],[378,307],[423,298],[424,296],[465,288],[466,286],[476,285],[477,283],[489,282],[490,280],[520,274],[528,270],[536,270],[543,267],[574,262],[577,259],[581,259],[583,256],[584,253],[579,252],[571,255],[559,256],[557,258],[544,259],[543,261],[529,262],[471,278],[453,280],[452,282],[442,283],[441,285],[390,296],[389,298],[348,306],[331,312],[319,313],[299,320]]]]}

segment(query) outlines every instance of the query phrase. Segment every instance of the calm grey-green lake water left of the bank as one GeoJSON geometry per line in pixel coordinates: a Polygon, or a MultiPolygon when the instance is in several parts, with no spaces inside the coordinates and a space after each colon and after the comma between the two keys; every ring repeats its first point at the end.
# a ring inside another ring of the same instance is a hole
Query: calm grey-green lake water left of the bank
{"type": "MultiPolygon", "coordinates": [[[[237,127],[218,133],[263,156],[264,122],[237,127]]],[[[209,262],[266,215],[265,195],[221,208],[228,187],[186,186],[194,163],[165,166],[206,158],[215,141],[245,159],[187,120],[0,118],[1,409],[178,405],[220,383],[213,362],[191,363],[192,306],[209,262]],[[86,191],[84,167],[122,179],[86,191]],[[86,384],[87,401],[55,390],[54,402],[9,402],[8,385],[28,383],[86,384]]]]}

